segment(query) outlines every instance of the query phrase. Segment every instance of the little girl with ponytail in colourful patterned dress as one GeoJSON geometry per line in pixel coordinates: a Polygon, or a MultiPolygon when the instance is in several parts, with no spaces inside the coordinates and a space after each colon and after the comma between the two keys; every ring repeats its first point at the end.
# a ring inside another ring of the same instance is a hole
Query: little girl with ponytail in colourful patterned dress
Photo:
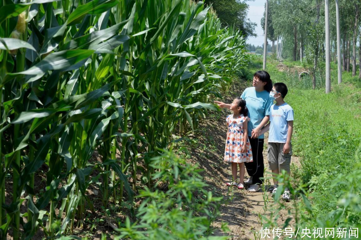
{"type": "Polygon", "coordinates": [[[237,186],[243,189],[244,162],[252,162],[252,150],[248,139],[246,101],[236,98],[231,103],[230,110],[233,114],[227,116],[228,124],[227,141],[225,148],[225,161],[232,163],[233,181],[227,186],[237,186]],[[237,164],[239,165],[239,183],[237,183],[237,164]]]}

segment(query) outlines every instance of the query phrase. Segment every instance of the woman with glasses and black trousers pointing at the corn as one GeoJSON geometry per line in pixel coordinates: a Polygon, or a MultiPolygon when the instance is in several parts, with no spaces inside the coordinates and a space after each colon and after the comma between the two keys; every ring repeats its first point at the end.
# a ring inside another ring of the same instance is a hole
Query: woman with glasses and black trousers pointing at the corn
{"type": "MultiPolygon", "coordinates": [[[[248,137],[251,143],[253,162],[245,163],[247,173],[250,176],[248,188],[250,192],[257,192],[263,181],[264,163],[263,163],[263,145],[264,134],[260,130],[268,123],[270,107],[273,104],[269,97],[272,90],[272,80],[266,71],[257,71],[253,75],[252,87],[246,88],[241,95],[247,103],[248,117],[248,137]],[[262,178],[262,179],[261,179],[262,178]]],[[[230,108],[230,104],[214,101],[219,107],[230,108]]]]}

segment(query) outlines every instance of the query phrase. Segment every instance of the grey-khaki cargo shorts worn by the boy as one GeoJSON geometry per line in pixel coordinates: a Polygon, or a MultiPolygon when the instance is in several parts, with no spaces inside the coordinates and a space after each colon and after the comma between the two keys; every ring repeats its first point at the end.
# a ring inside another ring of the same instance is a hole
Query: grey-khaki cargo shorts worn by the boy
{"type": "Polygon", "coordinates": [[[276,143],[269,142],[267,148],[267,159],[269,164],[269,169],[277,170],[279,172],[282,169],[286,170],[288,174],[290,174],[290,163],[291,163],[291,155],[292,155],[292,144],[290,146],[290,152],[288,154],[283,153],[283,146],[286,143],[276,143]]]}

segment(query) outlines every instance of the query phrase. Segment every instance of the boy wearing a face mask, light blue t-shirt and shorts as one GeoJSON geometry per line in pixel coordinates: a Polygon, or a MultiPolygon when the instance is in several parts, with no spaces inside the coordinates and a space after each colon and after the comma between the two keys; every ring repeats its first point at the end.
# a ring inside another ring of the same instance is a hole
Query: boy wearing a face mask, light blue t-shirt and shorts
{"type": "MultiPolygon", "coordinates": [[[[284,83],[275,83],[270,92],[270,98],[275,100],[275,104],[271,106],[270,122],[261,130],[260,134],[269,132],[268,136],[268,163],[273,175],[279,174],[282,169],[286,170],[290,175],[290,162],[292,154],[291,137],[293,131],[293,109],[284,102],[284,97],[288,92],[284,83]]],[[[277,191],[278,181],[273,177],[275,188],[277,191]]],[[[286,188],[282,195],[283,199],[290,201],[290,191],[286,188]]]]}

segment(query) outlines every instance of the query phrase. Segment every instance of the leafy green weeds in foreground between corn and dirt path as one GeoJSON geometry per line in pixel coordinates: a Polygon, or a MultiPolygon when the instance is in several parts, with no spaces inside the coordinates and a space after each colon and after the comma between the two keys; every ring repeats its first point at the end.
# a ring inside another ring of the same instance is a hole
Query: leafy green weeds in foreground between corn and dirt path
{"type": "MultiPolygon", "coordinates": [[[[115,239],[212,239],[208,237],[212,234],[211,223],[219,215],[217,203],[222,197],[205,190],[208,185],[199,175],[198,165],[188,164],[177,155],[164,151],[152,159],[151,165],[158,168],[153,179],[165,190],[145,187],[140,191],[138,197],[143,201],[137,211],[139,221],[131,223],[127,218],[115,239]]],[[[222,228],[226,231],[226,226],[222,228]]]]}

